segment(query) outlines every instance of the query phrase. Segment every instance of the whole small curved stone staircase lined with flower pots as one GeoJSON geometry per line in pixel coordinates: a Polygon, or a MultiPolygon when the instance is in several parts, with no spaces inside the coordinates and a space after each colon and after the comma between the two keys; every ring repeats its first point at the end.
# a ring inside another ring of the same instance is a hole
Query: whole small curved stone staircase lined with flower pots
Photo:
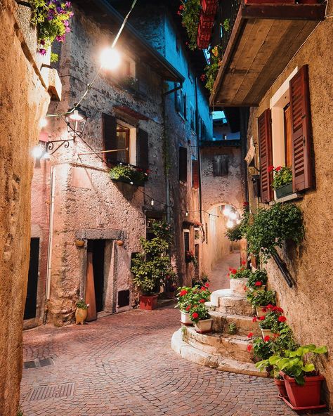
{"type": "Polygon", "coordinates": [[[171,348],[187,360],[216,370],[266,377],[247,351],[247,334],[261,334],[258,324],[252,322],[254,311],[247,299],[230,289],[216,290],[207,306],[214,332],[198,334],[194,327],[183,326],[174,332],[171,348]],[[230,324],[236,325],[236,334],[229,334],[230,324]]]}

